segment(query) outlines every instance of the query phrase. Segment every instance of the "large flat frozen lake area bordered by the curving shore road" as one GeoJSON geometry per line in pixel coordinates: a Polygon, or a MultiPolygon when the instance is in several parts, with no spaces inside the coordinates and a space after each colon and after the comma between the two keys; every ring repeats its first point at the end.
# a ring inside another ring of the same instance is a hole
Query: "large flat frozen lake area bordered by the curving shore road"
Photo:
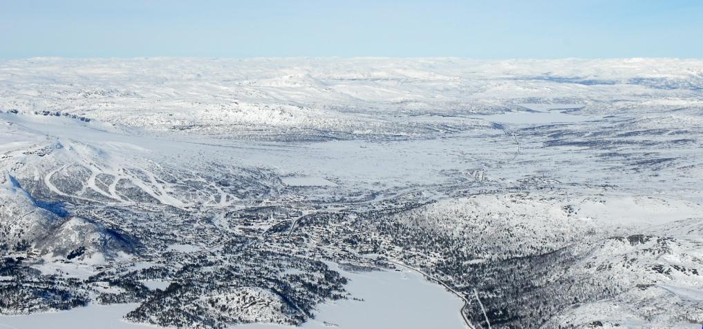
{"type": "MultiPolygon", "coordinates": [[[[359,300],[337,300],[318,307],[316,319],[305,329],[465,329],[459,315],[463,302],[441,286],[413,271],[352,273],[335,264],[330,267],[350,278],[347,290],[359,300]],[[337,325],[337,326],[334,326],[337,325]]],[[[249,324],[232,329],[283,329],[292,326],[249,324]]]]}

